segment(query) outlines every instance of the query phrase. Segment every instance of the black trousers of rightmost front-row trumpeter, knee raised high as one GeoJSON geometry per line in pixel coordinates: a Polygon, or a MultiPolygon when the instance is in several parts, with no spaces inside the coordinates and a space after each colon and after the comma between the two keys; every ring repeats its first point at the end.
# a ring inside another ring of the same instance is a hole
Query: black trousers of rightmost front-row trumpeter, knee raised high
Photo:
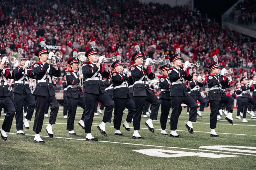
{"type": "Polygon", "coordinates": [[[210,103],[210,109],[211,109],[211,113],[210,113],[210,128],[211,129],[215,129],[216,125],[217,125],[217,116],[219,113],[219,106],[222,103],[228,103],[228,111],[229,112],[233,112],[233,108],[234,108],[234,98],[231,96],[226,96],[224,98],[221,98],[220,101],[216,101],[216,100],[209,100],[210,103]]]}

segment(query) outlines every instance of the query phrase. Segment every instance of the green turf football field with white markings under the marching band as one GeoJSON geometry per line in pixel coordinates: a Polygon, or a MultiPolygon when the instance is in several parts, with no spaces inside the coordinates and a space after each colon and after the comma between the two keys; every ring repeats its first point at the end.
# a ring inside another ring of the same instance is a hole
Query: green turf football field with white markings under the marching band
{"type": "MultiPolygon", "coordinates": [[[[106,124],[108,136],[105,137],[97,129],[102,115],[94,116],[92,135],[99,141],[88,142],[78,125],[82,109],[78,107],[74,122],[77,135],[68,135],[67,119],[63,118],[63,108],[60,108],[53,126],[54,138],[47,136],[45,128],[49,118],[44,118],[40,136],[45,144],[33,142],[34,116],[29,122],[30,129],[24,128],[26,135],[16,135],[14,118],[7,141],[0,139],[0,169],[256,169],[256,120],[247,114],[249,123],[242,123],[242,119],[235,119],[236,112],[234,110],[233,126],[225,119],[217,122],[219,138],[210,137],[209,109],[193,123],[194,135],[185,127],[188,115],[186,108],[183,109],[177,129],[182,138],[160,134],[160,109],[158,119],[153,121],[155,133],[144,124],[148,118],[141,119],[139,133],[144,140],[132,139],[132,124],[131,131],[121,127],[124,136],[115,136],[112,122],[106,124]]],[[[126,116],[127,110],[122,123],[126,116]]],[[[1,126],[3,119],[1,113],[1,126]]],[[[167,122],[168,133],[169,129],[167,122]]]]}

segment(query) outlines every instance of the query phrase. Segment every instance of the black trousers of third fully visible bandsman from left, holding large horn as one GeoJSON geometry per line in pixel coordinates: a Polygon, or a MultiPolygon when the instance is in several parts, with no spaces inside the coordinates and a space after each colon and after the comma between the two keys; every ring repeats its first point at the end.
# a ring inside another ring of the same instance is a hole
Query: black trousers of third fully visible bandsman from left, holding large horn
{"type": "Polygon", "coordinates": [[[74,130],[74,121],[76,117],[77,105],[82,107],[83,114],[81,119],[84,120],[84,112],[85,112],[85,103],[84,98],[71,98],[67,97],[68,101],[68,122],[67,122],[67,130],[74,130]]]}

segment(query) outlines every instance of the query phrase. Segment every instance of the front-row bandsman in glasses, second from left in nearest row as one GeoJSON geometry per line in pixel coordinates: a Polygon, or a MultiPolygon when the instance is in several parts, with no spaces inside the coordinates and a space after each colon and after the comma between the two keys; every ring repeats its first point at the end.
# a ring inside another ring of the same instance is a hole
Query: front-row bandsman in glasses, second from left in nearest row
{"type": "Polygon", "coordinates": [[[33,95],[36,96],[36,114],[33,131],[36,132],[34,142],[45,143],[39,135],[44,121],[45,106],[46,103],[49,103],[51,108],[49,124],[46,127],[46,131],[48,136],[53,138],[52,125],[56,122],[59,104],[55,97],[52,76],[60,77],[61,74],[57,64],[49,65],[54,53],[48,53],[48,48],[45,47],[45,41],[43,41],[42,37],[39,38],[39,41],[41,47],[36,51],[35,55],[39,57],[40,62],[33,65],[33,73],[37,80],[36,88],[33,92],[33,95]]]}

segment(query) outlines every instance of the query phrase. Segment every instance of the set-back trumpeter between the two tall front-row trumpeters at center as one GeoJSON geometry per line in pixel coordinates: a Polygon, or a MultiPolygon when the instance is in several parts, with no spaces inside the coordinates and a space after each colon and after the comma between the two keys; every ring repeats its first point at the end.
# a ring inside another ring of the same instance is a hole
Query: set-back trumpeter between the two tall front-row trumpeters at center
{"type": "Polygon", "coordinates": [[[112,73],[112,83],[114,87],[113,100],[115,103],[114,110],[114,128],[116,129],[115,135],[123,135],[120,132],[123,111],[126,107],[129,112],[126,117],[123,127],[125,130],[130,131],[129,123],[132,122],[134,115],[134,102],[130,96],[130,91],[128,87],[128,82],[131,80],[131,73],[127,69],[123,69],[123,62],[119,53],[116,53],[117,60],[111,65],[115,69],[112,73]],[[123,73],[124,72],[124,73],[123,73]]]}

